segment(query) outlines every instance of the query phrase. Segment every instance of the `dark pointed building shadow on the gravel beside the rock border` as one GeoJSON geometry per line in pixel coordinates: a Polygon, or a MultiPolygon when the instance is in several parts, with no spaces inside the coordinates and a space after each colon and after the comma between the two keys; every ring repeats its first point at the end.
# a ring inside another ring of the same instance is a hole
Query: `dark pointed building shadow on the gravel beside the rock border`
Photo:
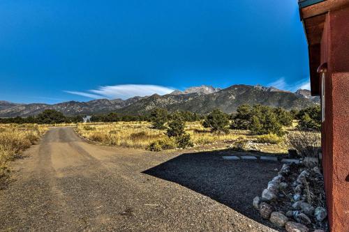
{"type": "Polygon", "coordinates": [[[223,160],[223,155],[234,155],[234,152],[184,153],[143,173],[188,187],[246,217],[272,226],[258,215],[252,201],[255,196],[260,196],[269,180],[276,176],[274,169],[280,169],[282,164],[263,160],[223,160]]]}

